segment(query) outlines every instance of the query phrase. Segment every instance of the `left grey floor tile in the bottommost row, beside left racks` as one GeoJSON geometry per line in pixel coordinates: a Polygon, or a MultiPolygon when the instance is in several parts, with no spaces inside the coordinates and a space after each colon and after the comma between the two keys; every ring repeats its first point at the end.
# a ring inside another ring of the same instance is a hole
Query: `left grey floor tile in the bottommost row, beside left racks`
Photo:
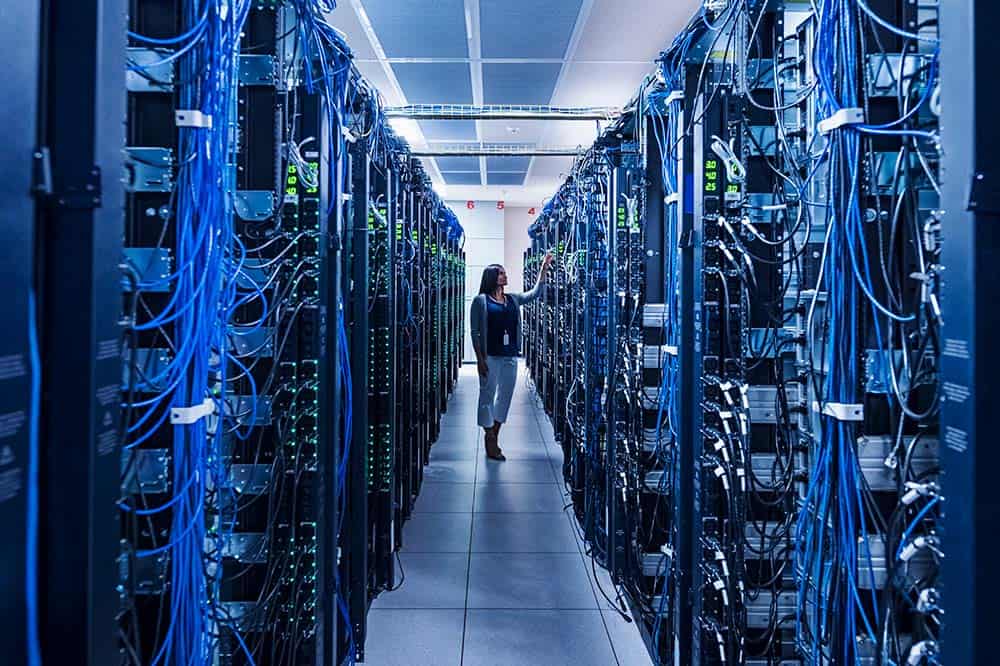
{"type": "Polygon", "coordinates": [[[365,664],[459,666],[464,610],[373,609],[368,613],[365,664]]]}

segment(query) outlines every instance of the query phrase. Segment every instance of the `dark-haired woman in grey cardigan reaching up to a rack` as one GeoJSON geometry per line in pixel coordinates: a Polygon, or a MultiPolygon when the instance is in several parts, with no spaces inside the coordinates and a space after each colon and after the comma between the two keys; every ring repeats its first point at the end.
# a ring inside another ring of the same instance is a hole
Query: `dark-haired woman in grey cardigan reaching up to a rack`
{"type": "Polygon", "coordinates": [[[479,365],[479,425],[486,433],[486,457],[490,460],[506,460],[498,438],[517,380],[521,306],[538,298],[550,263],[552,254],[546,253],[538,282],[524,294],[504,293],[507,272],[503,266],[491,264],[483,270],[479,295],[472,301],[469,322],[479,365]]]}

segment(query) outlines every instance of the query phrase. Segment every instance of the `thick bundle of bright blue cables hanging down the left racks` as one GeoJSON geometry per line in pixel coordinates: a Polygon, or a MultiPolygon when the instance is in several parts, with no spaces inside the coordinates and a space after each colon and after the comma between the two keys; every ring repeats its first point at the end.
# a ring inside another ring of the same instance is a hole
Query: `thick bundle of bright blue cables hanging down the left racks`
{"type": "MultiPolygon", "coordinates": [[[[209,488],[225,485],[222,436],[229,420],[227,404],[217,397],[226,385],[226,331],[238,291],[236,278],[242,257],[233,234],[232,164],[235,145],[230,131],[236,122],[237,56],[249,0],[207,0],[188,5],[184,18],[190,26],[177,37],[154,40],[132,34],[141,41],[177,46],[163,62],[179,61],[179,108],[198,111],[206,120],[179,129],[181,146],[176,195],[177,269],[155,281],[140,282],[137,289],[171,287],[166,306],[136,330],[174,327],[174,355],[160,372],[147,377],[156,387],[153,398],[126,405],[144,409],[129,426],[128,449],[151,437],[173,410],[215,402],[222,415],[214,433],[202,417],[177,419],[173,425],[173,495],[161,506],[130,507],[139,515],[169,510],[171,529],[167,543],[139,550],[136,557],[170,556],[170,623],[153,664],[201,665],[211,662],[220,625],[228,625],[243,645],[233,623],[218,605],[222,575],[221,553],[227,536],[206,521],[209,488]],[[201,5],[200,7],[198,5],[201,5]],[[223,360],[225,359],[225,360],[223,360]],[[210,485],[211,484],[211,485],[210,485]],[[206,540],[212,547],[206,552],[206,540]],[[208,566],[214,564],[214,567],[208,566]],[[213,571],[214,574],[209,574],[213,571]]],[[[147,66],[148,67],[148,66],[147,66]]],[[[255,396],[251,402],[256,409],[255,396]]]]}

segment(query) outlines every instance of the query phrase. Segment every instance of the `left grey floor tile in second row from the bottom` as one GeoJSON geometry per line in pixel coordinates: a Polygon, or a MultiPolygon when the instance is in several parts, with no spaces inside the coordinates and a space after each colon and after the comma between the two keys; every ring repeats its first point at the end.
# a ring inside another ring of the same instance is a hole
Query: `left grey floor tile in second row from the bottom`
{"type": "MultiPolygon", "coordinates": [[[[399,554],[399,561],[405,573],[402,584],[397,590],[378,595],[372,602],[373,609],[465,608],[468,553],[403,551],[399,554]]],[[[397,570],[397,577],[399,575],[397,570]]]]}

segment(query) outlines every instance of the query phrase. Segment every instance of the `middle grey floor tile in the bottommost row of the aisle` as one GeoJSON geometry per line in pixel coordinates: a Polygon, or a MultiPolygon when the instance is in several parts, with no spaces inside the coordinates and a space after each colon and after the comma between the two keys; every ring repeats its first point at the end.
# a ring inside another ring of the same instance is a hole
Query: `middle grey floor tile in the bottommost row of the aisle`
{"type": "Polygon", "coordinates": [[[464,666],[615,664],[600,611],[470,610],[464,666]]]}

